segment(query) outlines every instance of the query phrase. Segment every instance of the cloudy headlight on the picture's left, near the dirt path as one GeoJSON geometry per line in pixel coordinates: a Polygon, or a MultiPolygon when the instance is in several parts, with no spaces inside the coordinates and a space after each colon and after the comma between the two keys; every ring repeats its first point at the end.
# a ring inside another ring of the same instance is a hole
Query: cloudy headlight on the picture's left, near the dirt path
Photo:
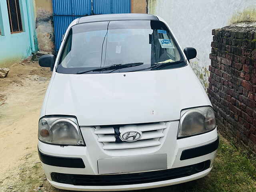
{"type": "Polygon", "coordinates": [[[44,117],[39,120],[38,140],[49,144],[84,146],[74,117],[44,117]]]}

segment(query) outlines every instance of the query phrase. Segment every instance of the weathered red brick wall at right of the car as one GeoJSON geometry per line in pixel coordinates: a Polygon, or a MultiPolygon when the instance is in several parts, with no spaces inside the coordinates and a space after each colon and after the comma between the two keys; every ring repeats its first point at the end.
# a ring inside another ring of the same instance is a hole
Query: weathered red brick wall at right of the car
{"type": "Polygon", "coordinates": [[[212,30],[208,96],[218,128],[256,152],[256,28],[212,30]]]}

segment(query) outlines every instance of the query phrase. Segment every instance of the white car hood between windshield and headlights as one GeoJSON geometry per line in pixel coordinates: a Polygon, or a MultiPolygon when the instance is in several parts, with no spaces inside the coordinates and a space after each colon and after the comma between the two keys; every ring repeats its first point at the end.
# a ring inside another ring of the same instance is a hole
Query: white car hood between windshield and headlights
{"type": "Polygon", "coordinates": [[[184,108],[210,105],[190,68],[108,73],[56,73],[45,115],[72,115],[80,126],[180,119],[184,108]]]}

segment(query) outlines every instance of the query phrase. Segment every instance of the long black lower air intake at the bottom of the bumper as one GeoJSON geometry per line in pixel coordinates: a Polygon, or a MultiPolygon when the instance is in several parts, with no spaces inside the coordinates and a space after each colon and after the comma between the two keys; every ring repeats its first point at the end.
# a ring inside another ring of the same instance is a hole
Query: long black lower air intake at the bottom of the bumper
{"type": "Polygon", "coordinates": [[[165,180],[172,180],[191,176],[202,172],[210,167],[210,160],[160,171],[132,173],[132,174],[114,174],[114,175],[77,175],[51,173],[52,180],[58,183],[80,185],[80,186],[116,186],[116,185],[132,185],[142,183],[152,183],[165,180]]]}

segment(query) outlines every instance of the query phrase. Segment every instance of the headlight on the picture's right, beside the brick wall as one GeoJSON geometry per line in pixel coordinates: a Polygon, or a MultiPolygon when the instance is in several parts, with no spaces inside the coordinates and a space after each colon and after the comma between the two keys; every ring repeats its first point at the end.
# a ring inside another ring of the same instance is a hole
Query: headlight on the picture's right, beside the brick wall
{"type": "Polygon", "coordinates": [[[181,111],[177,138],[209,132],[216,127],[214,110],[210,106],[181,111]]]}

